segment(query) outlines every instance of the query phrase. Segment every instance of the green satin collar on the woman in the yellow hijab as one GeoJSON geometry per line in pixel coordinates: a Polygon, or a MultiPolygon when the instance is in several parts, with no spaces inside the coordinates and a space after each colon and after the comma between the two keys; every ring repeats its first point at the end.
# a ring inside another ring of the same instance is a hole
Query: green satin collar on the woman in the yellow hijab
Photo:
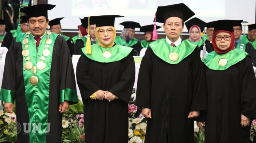
{"type": "Polygon", "coordinates": [[[82,48],[82,51],[85,54],[85,56],[87,56],[89,59],[95,60],[100,63],[110,63],[110,62],[122,60],[123,58],[128,56],[133,49],[133,48],[121,46],[118,44],[116,44],[111,48],[103,48],[99,46],[99,44],[93,44],[91,45],[91,48],[92,48],[91,54],[85,53],[85,48],[82,48]],[[111,57],[104,58],[102,55],[104,51],[110,51],[112,54],[111,57]]]}

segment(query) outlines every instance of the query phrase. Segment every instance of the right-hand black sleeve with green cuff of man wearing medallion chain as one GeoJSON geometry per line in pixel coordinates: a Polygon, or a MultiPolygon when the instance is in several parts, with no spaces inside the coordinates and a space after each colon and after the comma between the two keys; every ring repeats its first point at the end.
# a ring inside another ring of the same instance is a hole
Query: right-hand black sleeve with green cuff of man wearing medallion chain
{"type": "Polygon", "coordinates": [[[69,101],[70,105],[76,104],[76,80],[68,44],[61,36],[56,38],[56,42],[60,43],[60,91],[61,95],[64,94],[60,102],[69,101]]]}

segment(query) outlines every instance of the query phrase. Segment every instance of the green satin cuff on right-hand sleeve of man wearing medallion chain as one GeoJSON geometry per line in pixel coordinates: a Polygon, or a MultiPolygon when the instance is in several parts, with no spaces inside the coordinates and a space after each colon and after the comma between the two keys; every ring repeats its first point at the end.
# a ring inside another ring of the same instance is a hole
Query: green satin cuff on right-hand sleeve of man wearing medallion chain
{"type": "Polygon", "coordinates": [[[77,103],[77,93],[76,90],[66,88],[60,91],[60,103],[64,101],[71,101],[77,103]],[[76,95],[76,96],[68,96],[68,95],[76,95]]]}

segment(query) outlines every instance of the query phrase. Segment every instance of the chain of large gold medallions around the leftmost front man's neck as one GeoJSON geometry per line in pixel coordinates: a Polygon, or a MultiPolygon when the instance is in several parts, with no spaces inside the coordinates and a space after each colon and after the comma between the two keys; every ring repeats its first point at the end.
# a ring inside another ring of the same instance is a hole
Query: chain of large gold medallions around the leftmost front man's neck
{"type": "Polygon", "coordinates": [[[44,50],[42,52],[42,56],[40,58],[40,61],[37,62],[36,66],[33,66],[33,63],[31,62],[30,56],[29,56],[29,50],[28,50],[28,38],[30,36],[30,32],[26,33],[25,39],[23,39],[22,43],[24,44],[24,48],[22,51],[22,56],[24,56],[26,59],[26,63],[24,65],[24,68],[27,71],[30,71],[33,73],[33,76],[30,78],[30,83],[32,85],[36,85],[38,83],[38,78],[35,76],[35,73],[37,73],[39,70],[43,70],[46,67],[45,61],[46,57],[50,55],[50,44],[52,43],[52,40],[50,39],[50,35],[52,34],[51,32],[46,32],[46,40],[45,40],[45,45],[44,45],[44,50]],[[38,69],[38,70],[37,70],[38,69]]]}

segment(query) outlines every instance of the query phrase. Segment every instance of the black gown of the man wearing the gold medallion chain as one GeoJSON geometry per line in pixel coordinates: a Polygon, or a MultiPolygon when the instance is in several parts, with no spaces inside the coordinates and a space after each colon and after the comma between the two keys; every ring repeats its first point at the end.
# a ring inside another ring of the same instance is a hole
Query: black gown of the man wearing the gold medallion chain
{"type": "MultiPolygon", "coordinates": [[[[24,133],[23,123],[29,123],[28,107],[25,97],[23,79],[22,44],[13,39],[6,54],[2,88],[15,91],[17,122],[21,124],[18,133],[19,143],[29,143],[29,135],[24,133]]],[[[48,123],[50,132],[47,134],[46,143],[60,143],[62,133],[62,114],[59,112],[60,91],[65,88],[76,90],[76,81],[68,45],[63,37],[58,36],[54,43],[52,65],[50,72],[50,91],[48,123]]],[[[74,104],[69,102],[69,105],[74,104]]],[[[27,130],[27,129],[25,129],[27,130]]]]}

